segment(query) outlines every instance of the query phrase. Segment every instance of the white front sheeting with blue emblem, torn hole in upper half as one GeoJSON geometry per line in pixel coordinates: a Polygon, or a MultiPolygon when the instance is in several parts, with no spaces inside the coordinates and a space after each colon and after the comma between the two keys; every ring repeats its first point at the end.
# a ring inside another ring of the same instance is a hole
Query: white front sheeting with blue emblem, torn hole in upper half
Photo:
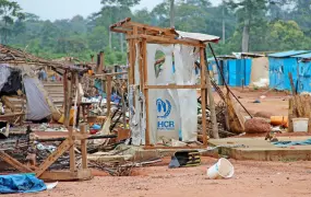
{"type": "MultiPolygon", "coordinates": [[[[198,57],[199,53],[193,47],[148,44],[148,85],[195,84],[194,61],[198,57]],[[154,65],[158,50],[164,53],[165,62],[162,72],[156,77],[154,65]]],[[[162,137],[178,140],[179,134],[182,141],[196,141],[196,90],[149,90],[148,97],[152,143],[162,137]]]]}

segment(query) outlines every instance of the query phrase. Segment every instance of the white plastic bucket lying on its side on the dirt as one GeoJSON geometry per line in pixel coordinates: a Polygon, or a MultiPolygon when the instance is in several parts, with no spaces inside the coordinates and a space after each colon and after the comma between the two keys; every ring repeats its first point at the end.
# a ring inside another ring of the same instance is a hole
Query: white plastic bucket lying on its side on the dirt
{"type": "Polygon", "coordinates": [[[234,174],[234,165],[225,158],[219,159],[217,163],[207,170],[207,177],[211,179],[230,178],[234,174]]]}

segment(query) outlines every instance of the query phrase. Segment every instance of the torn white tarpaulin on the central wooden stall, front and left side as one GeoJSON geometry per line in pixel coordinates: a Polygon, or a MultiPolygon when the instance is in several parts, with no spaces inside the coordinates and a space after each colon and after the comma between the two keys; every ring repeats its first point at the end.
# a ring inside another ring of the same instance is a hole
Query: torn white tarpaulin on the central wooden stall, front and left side
{"type": "MultiPolygon", "coordinates": [[[[139,50],[136,50],[135,84],[129,86],[130,127],[132,143],[145,143],[145,99],[140,84],[139,50]],[[134,107],[135,101],[135,107],[134,107]]],[[[191,46],[147,44],[148,85],[195,84],[194,61],[199,51],[191,46]],[[163,54],[165,61],[156,74],[156,54],[163,54]]],[[[196,90],[149,90],[148,91],[149,141],[155,144],[162,137],[182,141],[198,139],[196,90]]]]}

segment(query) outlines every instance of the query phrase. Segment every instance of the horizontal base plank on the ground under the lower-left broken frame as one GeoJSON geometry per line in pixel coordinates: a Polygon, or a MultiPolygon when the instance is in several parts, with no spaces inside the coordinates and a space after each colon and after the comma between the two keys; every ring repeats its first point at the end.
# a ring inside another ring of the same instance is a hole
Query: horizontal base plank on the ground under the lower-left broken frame
{"type": "Polygon", "coordinates": [[[89,169],[79,170],[76,172],[44,172],[40,179],[49,182],[69,182],[69,181],[88,181],[93,178],[92,171],[89,169]]]}

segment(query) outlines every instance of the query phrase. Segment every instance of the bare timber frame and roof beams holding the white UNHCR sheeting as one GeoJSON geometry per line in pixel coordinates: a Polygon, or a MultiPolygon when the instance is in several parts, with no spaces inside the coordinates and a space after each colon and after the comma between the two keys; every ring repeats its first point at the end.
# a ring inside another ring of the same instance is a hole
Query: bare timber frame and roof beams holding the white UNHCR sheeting
{"type": "MultiPolygon", "coordinates": [[[[117,33],[127,34],[127,40],[129,44],[128,58],[129,58],[129,84],[135,84],[134,77],[134,67],[136,59],[136,51],[140,51],[139,60],[139,70],[140,70],[140,90],[145,96],[145,108],[146,108],[146,131],[145,131],[145,144],[146,147],[151,146],[149,142],[149,107],[148,107],[148,91],[154,89],[201,89],[202,97],[202,117],[206,117],[206,93],[207,93],[207,83],[206,83],[206,65],[205,65],[205,42],[208,40],[199,40],[191,37],[178,38],[179,34],[174,28],[162,28],[156,26],[149,26],[146,24],[132,22],[130,18],[120,21],[110,26],[110,31],[117,33]],[[200,59],[201,59],[201,84],[199,85],[148,85],[147,78],[147,44],[180,44],[188,45],[200,48],[200,59]],[[136,46],[139,47],[136,49],[136,46]]],[[[211,40],[215,42],[215,40],[211,40]]],[[[202,132],[203,132],[203,144],[207,146],[207,134],[206,134],[206,118],[202,118],[202,132]]]]}

